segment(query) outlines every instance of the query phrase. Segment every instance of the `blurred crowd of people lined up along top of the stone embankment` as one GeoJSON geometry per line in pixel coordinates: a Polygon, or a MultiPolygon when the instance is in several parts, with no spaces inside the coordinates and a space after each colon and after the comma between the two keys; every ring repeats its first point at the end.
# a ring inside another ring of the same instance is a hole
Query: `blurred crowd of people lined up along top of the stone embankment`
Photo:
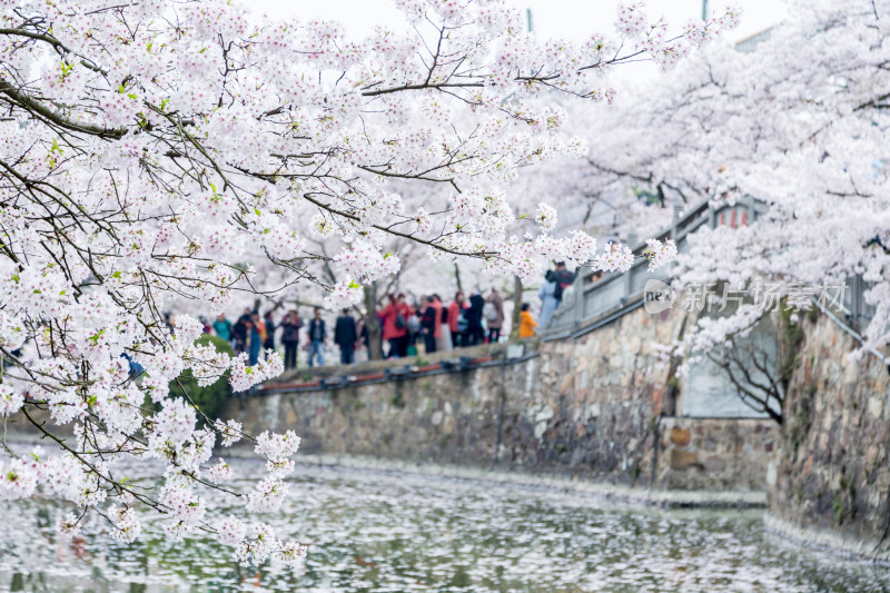
{"type": "MultiPolygon", "coordinates": [[[[547,270],[538,296],[542,307],[538,320],[532,315],[531,305],[525,303],[520,315],[520,337],[535,335],[537,328],[545,326],[556,310],[565,288],[572,285],[575,275],[562,263],[547,270]]],[[[504,327],[504,298],[496,288],[483,296],[476,289],[466,298],[458,290],[447,305],[438,294],[425,295],[417,303],[408,303],[399,293],[388,295],[377,307],[380,326],[380,352],[386,358],[405,358],[424,353],[452,350],[500,342],[504,327]]],[[[284,349],[285,368],[296,368],[300,347],[307,353],[309,367],[324,366],[325,350],[330,334],[323,318],[320,307],[313,309],[308,323],[304,323],[296,309],[275,319],[274,310],[260,316],[257,310],[245,310],[235,323],[219,315],[212,323],[205,320],[205,332],[216,334],[231,344],[235,355],[247,353],[248,364],[256,365],[261,353],[284,349]],[[276,340],[277,336],[277,340],[276,340]]],[[[333,342],[339,348],[340,364],[356,362],[356,353],[369,350],[369,334],[364,319],[343,309],[334,325],[333,342]]]]}

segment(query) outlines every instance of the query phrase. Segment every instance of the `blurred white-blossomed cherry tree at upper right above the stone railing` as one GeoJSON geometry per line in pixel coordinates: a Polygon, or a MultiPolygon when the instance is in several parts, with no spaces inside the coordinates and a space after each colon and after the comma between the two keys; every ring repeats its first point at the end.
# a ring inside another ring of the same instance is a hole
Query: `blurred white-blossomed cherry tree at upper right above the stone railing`
{"type": "MultiPolygon", "coordinates": [[[[881,348],[890,343],[890,8],[789,4],[793,18],[751,51],[712,45],[597,113],[603,134],[591,142],[589,175],[602,191],[645,187],[681,206],[765,202],[755,225],[693,236],[679,258],[683,283],[778,279],[778,300],[861,275],[874,307],[864,346],[881,348]]],[[[724,344],[763,314],[752,306],[702,319],[693,349],[724,344]]]]}

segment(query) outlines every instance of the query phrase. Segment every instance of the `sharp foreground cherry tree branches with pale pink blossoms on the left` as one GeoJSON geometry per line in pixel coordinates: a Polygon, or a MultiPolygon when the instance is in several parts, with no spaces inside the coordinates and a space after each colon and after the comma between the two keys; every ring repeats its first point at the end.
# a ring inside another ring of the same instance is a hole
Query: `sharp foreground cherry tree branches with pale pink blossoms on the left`
{"type": "Polygon", "coordinates": [[[168,327],[166,305],[215,312],[238,293],[325,285],[319,261],[337,271],[328,304],[348,305],[398,269],[387,237],[520,277],[552,257],[596,265],[591,237],[547,233],[546,208],[537,234],[506,233],[503,187],[516,168],[583,148],[556,134],[563,110],[532,100],[611,100],[610,68],[670,66],[735,20],[728,11],[670,37],[632,6],[615,37],[538,45],[503,0],[398,4],[409,30],[349,40],[335,23],[260,19],[221,0],[3,0],[0,415],[56,446],[32,457],[8,449],[0,496],[60,496],[72,508],[63,531],[95,512],[123,542],[140,533],[137,508],[150,508],[171,537],[201,530],[241,561],[297,562],[305,545],[263,523],[210,517],[205,501],[278,508],[299,438],[251,438],[168,394],[186,368],[201,385],[228,369],[243,391],[277,375],[280,359],[250,367],[198,346],[200,324],[178,315],[168,327]],[[405,185],[447,197],[408,207],[396,190],[405,185]],[[339,247],[314,251],[307,237],[339,247]],[[278,284],[257,274],[269,263],[286,270],[278,284]],[[209,464],[216,445],[240,438],[268,461],[250,492],[220,485],[225,461],[209,464]],[[160,459],[162,485],[120,480],[122,457],[160,459]]]}

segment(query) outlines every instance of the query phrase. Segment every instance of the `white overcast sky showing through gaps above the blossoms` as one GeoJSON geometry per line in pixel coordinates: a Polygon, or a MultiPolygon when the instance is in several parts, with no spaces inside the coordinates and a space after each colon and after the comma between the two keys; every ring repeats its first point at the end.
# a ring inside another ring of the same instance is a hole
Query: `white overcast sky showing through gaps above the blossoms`
{"type": "MultiPolygon", "coordinates": [[[[633,0],[514,0],[532,11],[532,22],[538,39],[565,37],[580,41],[593,33],[613,31],[616,7],[633,0]]],[[[296,17],[301,20],[337,20],[350,37],[370,34],[377,24],[404,23],[402,12],[393,0],[241,0],[254,10],[270,17],[296,17]]],[[[710,13],[722,11],[728,0],[709,0],[710,13]]],[[[728,33],[730,41],[739,41],[758,33],[782,20],[787,12],[781,0],[733,0],[741,7],[741,24],[728,33]]],[[[670,31],[680,31],[692,18],[701,18],[702,0],[647,0],[646,12],[651,19],[664,17],[670,31]]],[[[613,82],[639,82],[657,75],[651,63],[623,66],[615,72],[613,82]]]]}

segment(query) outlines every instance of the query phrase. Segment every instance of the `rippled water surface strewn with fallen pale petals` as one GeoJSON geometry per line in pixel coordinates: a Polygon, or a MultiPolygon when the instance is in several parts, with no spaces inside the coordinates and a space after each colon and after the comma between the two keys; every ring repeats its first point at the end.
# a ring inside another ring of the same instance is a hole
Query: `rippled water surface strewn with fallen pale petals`
{"type": "Polygon", "coordinates": [[[157,524],[128,546],[89,530],[61,540],[56,502],[0,503],[0,591],[890,591],[887,567],[785,544],[764,533],[760,512],[624,508],[315,466],[298,466],[291,494],[267,521],[313,542],[297,573],[234,566],[224,546],[167,543],[157,524]]]}

